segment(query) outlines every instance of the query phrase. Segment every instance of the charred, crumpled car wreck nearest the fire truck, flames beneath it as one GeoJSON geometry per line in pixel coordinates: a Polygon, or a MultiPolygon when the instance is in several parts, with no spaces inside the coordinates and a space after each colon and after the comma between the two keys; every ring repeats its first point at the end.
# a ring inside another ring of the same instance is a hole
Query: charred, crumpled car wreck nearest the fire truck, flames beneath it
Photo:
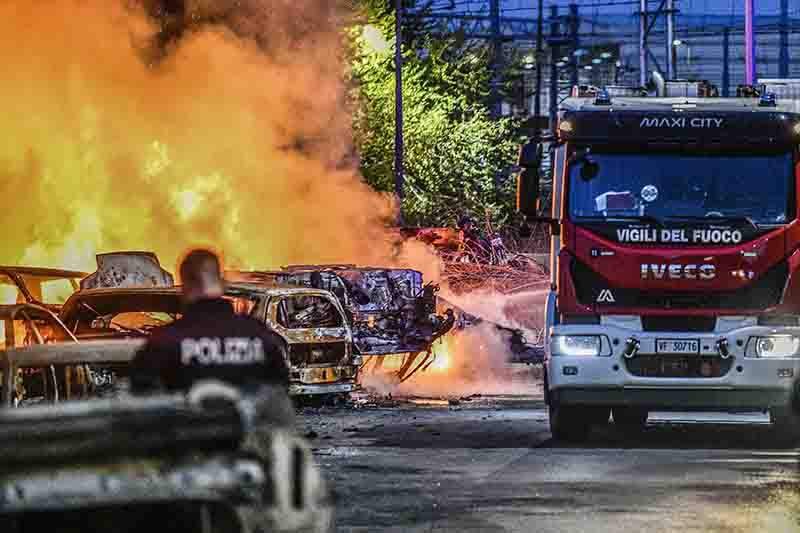
{"type": "Polygon", "coordinates": [[[324,289],[342,303],[362,356],[427,352],[453,327],[437,314],[438,287],[410,269],[354,265],[289,266],[273,272],[228,272],[232,280],[324,289]]]}

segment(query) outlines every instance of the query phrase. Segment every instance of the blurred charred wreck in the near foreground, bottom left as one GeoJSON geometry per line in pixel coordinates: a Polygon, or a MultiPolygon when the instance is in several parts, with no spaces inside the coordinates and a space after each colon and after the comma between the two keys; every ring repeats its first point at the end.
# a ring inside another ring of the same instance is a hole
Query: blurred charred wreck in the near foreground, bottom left
{"type": "Polygon", "coordinates": [[[2,531],[332,528],[291,405],[270,388],[243,396],[206,382],[186,395],[3,409],[0,455],[2,531]]]}

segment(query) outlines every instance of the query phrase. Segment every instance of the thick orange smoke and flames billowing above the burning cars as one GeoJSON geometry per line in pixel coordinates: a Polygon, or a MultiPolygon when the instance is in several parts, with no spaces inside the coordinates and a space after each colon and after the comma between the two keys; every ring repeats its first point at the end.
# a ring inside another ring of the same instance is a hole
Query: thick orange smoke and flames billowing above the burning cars
{"type": "Polygon", "coordinates": [[[0,3],[0,261],[90,270],[143,249],[171,267],[206,245],[242,268],[431,264],[398,249],[393,201],[358,175],[345,15],[333,0],[0,3]]]}

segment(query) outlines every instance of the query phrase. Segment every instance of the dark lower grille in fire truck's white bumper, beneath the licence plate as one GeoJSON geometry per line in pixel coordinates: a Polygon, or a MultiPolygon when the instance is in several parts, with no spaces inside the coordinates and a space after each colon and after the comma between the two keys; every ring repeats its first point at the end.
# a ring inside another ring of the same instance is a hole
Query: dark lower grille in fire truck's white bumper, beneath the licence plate
{"type": "Polygon", "coordinates": [[[637,355],[625,366],[634,376],[646,378],[719,378],[727,374],[733,358],[685,355],[637,355]]]}

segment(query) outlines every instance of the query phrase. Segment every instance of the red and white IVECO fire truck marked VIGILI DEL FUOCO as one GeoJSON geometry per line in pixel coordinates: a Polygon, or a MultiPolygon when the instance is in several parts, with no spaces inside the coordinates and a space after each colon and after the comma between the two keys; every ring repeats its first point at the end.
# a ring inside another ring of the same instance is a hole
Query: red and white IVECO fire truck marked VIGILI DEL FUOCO
{"type": "MultiPolygon", "coordinates": [[[[760,411],[800,435],[800,113],[703,84],[567,99],[549,216],[520,152],[518,207],[551,229],[545,396],[557,440],[653,411],[760,411]],[[617,96],[623,94],[623,96],[617,96]]],[[[742,94],[759,94],[759,91],[742,94]]]]}

